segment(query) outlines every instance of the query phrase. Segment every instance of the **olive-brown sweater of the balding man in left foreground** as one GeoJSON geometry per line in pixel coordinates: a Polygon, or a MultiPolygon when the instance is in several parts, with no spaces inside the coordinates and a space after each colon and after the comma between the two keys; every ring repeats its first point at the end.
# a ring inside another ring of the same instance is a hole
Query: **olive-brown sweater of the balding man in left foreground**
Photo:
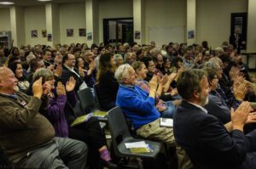
{"type": "Polygon", "coordinates": [[[0,145],[10,162],[55,136],[50,122],[38,110],[42,101],[17,92],[17,99],[0,94],[0,145]]]}

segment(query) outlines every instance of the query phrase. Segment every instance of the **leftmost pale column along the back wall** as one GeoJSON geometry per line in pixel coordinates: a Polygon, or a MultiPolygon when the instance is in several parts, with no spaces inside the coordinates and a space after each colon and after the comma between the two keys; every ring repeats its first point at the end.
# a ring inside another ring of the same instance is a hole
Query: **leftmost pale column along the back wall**
{"type": "Polygon", "coordinates": [[[26,45],[23,7],[10,7],[10,27],[14,46],[20,48],[21,45],[26,45]]]}

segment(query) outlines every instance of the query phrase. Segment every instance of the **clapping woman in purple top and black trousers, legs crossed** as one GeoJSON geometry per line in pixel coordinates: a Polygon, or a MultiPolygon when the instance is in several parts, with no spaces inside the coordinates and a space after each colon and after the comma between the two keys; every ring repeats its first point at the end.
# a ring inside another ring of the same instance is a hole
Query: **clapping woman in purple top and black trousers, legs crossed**
{"type": "MultiPolygon", "coordinates": [[[[42,114],[55,127],[55,136],[61,138],[69,137],[87,144],[89,148],[88,163],[90,168],[101,168],[102,162],[105,162],[107,166],[114,166],[111,163],[105,136],[96,117],[90,117],[88,121],[84,121],[74,127],[70,127],[73,121],[67,121],[66,119],[66,115],[70,117],[71,115],[68,114],[73,114],[71,111],[73,107],[67,109],[67,106],[71,105],[71,102],[74,102],[72,104],[76,104],[76,97],[73,91],[76,82],[73,76],[70,77],[66,87],[61,82],[58,82],[55,87],[53,73],[48,69],[42,68],[37,70],[33,76],[33,80],[37,81],[40,77],[47,84],[49,90],[49,106],[42,114]],[[99,160],[100,156],[102,161],[99,160]]],[[[73,114],[73,116],[75,115],[73,114]]]]}

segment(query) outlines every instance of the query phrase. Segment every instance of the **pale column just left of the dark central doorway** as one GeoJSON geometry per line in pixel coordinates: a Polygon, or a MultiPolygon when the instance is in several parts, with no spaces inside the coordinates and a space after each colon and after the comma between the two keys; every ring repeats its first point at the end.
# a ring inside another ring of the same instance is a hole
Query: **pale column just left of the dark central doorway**
{"type": "Polygon", "coordinates": [[[98,1],[85,0],[86,40],[90,48],[92,43],[98,43],[98,1]]]}

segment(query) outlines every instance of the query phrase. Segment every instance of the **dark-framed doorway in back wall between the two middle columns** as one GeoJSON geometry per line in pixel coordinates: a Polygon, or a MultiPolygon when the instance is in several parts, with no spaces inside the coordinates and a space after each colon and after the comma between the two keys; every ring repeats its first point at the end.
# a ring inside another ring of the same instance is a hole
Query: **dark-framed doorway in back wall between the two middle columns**
{"type": "Polygon", "coordinates": [[[103,19],[103,41],[112,46],[119,42],[133,43],[133,19],[103,19]]]}

